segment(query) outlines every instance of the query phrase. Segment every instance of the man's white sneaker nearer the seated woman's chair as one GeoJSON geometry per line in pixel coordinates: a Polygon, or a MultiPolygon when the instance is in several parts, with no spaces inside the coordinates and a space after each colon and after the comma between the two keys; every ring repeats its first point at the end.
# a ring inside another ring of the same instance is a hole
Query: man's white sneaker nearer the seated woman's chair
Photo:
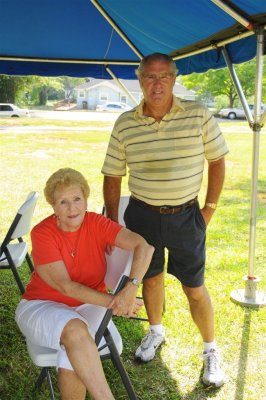
{"type": "Polygon", "coordinates": [[[165,336],[154,333],[151,330],[142,339],[141,345],[137,348],[135,358],[138,361],[148,362],[155,357],[155,352],[163,343],[165,343],[165,336]]]}

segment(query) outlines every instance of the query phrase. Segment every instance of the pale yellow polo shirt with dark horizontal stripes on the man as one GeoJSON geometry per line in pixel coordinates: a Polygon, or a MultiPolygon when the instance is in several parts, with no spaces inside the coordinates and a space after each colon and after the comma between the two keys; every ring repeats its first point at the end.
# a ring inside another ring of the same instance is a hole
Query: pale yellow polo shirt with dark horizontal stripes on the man
{"type": "Polygon", "coordinates": [[[197,196],[204,160],[228,153],[209,110],[174,97],[160,122],[143,115],[143,101],[117,119],[102,173],[125,176],[133,196],[153,205],[179,205],[197,196]]]}

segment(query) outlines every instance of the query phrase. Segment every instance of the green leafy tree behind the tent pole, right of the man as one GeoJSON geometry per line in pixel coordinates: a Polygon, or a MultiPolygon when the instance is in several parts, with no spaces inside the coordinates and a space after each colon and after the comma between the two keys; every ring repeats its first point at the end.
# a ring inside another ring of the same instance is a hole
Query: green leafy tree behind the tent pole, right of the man
{"type": "MultiPolygon", "coordinates": [[[[265,60],[264,57],[264,65],[266,64],[265,60]]],[[[256,74],[255,60],[235,65],[234,68],[246,98],[250,98],[253,101],[256,74]]],[[[266,71],[264,68],[264,80],[266,80],[265,76],[266,71]]],[[[193,73],[182,77],[182,82],[188,89],[196,90],[199,97],[204,101],[211,97],[224,95],[228,100],[228,106],[233,107],[238,99],[228,68],[209,70],[201,74],[193,73]]]]}

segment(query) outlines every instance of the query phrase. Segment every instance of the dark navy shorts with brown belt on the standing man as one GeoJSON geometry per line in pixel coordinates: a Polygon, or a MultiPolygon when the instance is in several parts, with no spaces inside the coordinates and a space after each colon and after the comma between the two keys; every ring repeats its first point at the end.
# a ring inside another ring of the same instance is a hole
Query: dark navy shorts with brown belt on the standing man
{"type": "Polygon", "coordinates": [[[130,197],[124,220],[128,229],[155,247],[144,279],[164,271],[165,249],[168,249],[167,272],[185,286],[203,285],[206,224],[198,202],[179,213],[165,215],[130,197]]]}

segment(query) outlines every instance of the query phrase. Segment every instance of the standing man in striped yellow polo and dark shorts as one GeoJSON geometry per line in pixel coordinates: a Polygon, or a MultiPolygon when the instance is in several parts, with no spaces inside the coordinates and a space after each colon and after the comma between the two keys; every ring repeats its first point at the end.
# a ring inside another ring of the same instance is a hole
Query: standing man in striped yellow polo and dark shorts
{"type": "Polygon", "coordinates": [[[162,312],[167,249],[167,271],[181,282],[203,339],[203,382],[219,387],[224,374],[214,339],[211,299],[204,286],[205,238],[222,190],[228,149],[206,107],[173,95],[176,73],[175,63],[165,54],[154,53],[141,61],[137,76],[144,99],[114,125],[102,168],[104,201],[107,216],[117,221],[121,181],[128,167],[131,197],[126,225],[155,247],[143,279],[150,329],[136,358],[152,360],[165,342],[162,312]],[[200,209],[197,195],[205,160],[208,184],[200,209]]]}

